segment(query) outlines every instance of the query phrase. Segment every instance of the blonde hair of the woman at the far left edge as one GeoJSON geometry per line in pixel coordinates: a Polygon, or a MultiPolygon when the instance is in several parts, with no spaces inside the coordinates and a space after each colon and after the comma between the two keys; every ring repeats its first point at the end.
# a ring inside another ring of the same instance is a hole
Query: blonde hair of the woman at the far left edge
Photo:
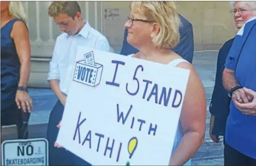
{"type": "Polygon", "coordinates": [[[25,23],[27,21],[27,16],[23,3],[21,1],[10,1],[9,13],[15,18],[22,19],[25,23]]]}

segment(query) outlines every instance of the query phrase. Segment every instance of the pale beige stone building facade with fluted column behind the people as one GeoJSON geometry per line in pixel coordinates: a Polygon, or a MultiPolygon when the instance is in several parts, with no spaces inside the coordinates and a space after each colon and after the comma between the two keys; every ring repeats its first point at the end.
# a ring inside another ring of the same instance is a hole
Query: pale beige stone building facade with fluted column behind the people
{"type": "MultiPolygon", "coordinates": [[[[48,87],[47,73],[59,27],[48,17],[51,2],[24,2],[30,30],[32,68],[29,85],[48,87]]],[[[130,2],[79,1],[82,16],[91,27],[108,38],[116,53],[122,48],[124,24],[130,16],[130,2]]],[[[236,34],[229,2],[177,2],[179,13],[193,24],[195,50],[219,50],[223,43],[236,34]]]]}

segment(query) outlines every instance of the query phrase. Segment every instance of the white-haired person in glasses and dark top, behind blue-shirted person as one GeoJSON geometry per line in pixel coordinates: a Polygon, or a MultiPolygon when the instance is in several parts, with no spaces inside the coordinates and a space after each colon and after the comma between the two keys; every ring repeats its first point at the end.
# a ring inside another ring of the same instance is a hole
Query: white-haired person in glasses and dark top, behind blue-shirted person
{"type": "MultiPolygon", "coordinates": [[[[237,29],[243,27],[246,21],[250,20],[256,12],[256,2],[231,1],[230,13],[233,14],[234,23],[237,29]],[[251,10],[250,10],[251,9],[251,10]]],[[[214,142],[219,142],[219,135],[225,136],[226,120],[229,115],[229,105],[231,97],[223,87],[222,73],[225,68],[225,61],[234,38],[227,40],[218,53],[217,70],[215,78],[214,91],[212,93],[212,101],[209,108],[211,113],[211,123],[209,134],[214,142]]],[[[223,141],[225,143],[225,139],[223,141]]]]}

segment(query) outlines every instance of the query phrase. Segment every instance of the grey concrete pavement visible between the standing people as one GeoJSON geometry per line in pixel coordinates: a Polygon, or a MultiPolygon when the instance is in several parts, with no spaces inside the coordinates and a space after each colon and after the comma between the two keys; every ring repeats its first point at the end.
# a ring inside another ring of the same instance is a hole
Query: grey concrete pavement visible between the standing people
{"type": "MultiPolygon", "coordinates": [[[[207,109],[209,108],[215,83],[217,53],[216,51],[196,52],[193,58],[193,65],[205,87],[207,109]]],[[[30,138],[45,137],[49,113],[56,104],[57,98],[49,89],[30,88],[29,92],[34,103],[34,109],[29,121],[30,138]]],[[[222,142],[214,143],[209,138],[209,116],[209,111],[207,111],[205,143],[193,157],[193,165],[223,165],[222,142]]],[[[4,128],[3,138],[13,139],[15,138],[15,132],[13,127],[4,128]]]]}

